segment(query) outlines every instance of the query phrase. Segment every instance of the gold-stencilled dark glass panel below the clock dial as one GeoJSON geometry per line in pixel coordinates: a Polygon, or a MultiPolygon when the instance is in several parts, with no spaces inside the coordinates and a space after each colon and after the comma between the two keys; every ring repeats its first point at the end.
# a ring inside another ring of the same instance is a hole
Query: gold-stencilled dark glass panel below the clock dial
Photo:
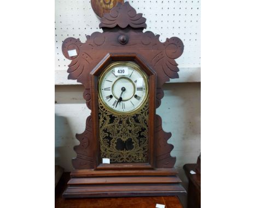
{"type": "Polygon", "coordinates": [[[135,114],[112,114],[99,102],[101,158],[110,163],[148,162],[148,101],[135,114]]]}

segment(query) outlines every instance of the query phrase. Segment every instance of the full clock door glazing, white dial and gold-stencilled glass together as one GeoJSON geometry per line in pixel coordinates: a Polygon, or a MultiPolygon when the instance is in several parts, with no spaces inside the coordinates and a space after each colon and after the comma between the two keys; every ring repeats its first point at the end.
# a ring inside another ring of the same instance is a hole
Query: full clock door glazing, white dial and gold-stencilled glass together
{"type": "Polygon", "coordinates": [[[148,162],[148,77],[132,62],[110,64],[98,84],[101,158],[148,162]]]}

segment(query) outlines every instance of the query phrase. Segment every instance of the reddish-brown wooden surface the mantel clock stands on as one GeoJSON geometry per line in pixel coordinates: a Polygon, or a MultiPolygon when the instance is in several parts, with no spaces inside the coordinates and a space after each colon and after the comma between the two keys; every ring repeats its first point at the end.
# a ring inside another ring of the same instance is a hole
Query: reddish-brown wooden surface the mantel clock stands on
{"type": "Polygon", "coordinates": [[[63,173],[55,188],[55,208],[150,208],[156,204],[164,204],[165,208],[182,208],[178,197],[119,197],[119,198],[89,198],[89,199],[64,199],[62,193],[67,186],[69,173],[63,173]]]}

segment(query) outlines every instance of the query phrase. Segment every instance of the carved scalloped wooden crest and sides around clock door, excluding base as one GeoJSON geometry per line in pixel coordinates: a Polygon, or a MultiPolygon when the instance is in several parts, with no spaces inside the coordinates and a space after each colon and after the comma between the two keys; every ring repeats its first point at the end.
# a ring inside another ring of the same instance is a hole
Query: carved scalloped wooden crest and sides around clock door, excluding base
{"type": "MultiPolygon", "coordinates": [[[[156,72],[156,108],[164,97],[162,85],[170,78],[178,78],[178,64],[174,59],[183,53],[183,42],[177,37],[167,38],[165,42],[159,41],[159,35],[147,31],[146,19],[142,14],[137,14],[129,2],[118,3],[110,13],[104,14],[100,28],[103,32],[95,32],[86,36],[86,42],[79,39],[67,38],[63,41],[62,52],[71,60],[68,65],[68,79],[77,79],[84,85],[84,99],[91,109],[91,84],[90,72],[109,53],[136,53],[144,62],[156,72]],[[75,50],[75,56],[69,56],[69,51],[75,50]]],[[[171,133],[162,130],[161,118],[155,115],[155,167],[172,168],[176,162],[175,157],[170,156],[173,145],[167,144],[171,133]]],[[[93,168],[92,148],[92,121],[91,116],[86,119],[84,133],[77,134],[80,144],[74,147],[77,158],[72,160],[75,169],[93,168]]]]}

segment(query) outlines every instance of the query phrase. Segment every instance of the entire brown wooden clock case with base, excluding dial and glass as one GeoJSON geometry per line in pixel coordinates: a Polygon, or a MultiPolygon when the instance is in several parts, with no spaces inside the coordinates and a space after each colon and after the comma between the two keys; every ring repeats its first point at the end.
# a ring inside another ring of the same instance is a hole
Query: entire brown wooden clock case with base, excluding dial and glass
{"type": "Polygon", "coordinates": [[[84,99],[91,109],[85,131],[76,134],[80,144],[74,146],[77,157],[72,159],[74,170],[63,193],[65,198],[185,193],[173,168],[176,162],[176,157],[170,155],[173,145],[167,144],[171,133],[162,130],[161,117],[155,113],[164,97],[162,85],[170,78],[178,78],[178,64],[174,59],[181,56],[184,46],[177,37],[160,42],[159,35],[143,32],[147,27],[145,22],[142,14],[137,14],[128,2],[118,3],[102,17],[103,33],[86,36],[85,43],[75,38],[63,41],[62,52],[72,60],[68,78],[84,85],[84,99]],[[77,55],[70,57],[71,50],[77,55]],[[101,72],[115,61],[135,62],[149,77],[148,163],[102,164],[100,161],[97,81],[101,72]]]}

